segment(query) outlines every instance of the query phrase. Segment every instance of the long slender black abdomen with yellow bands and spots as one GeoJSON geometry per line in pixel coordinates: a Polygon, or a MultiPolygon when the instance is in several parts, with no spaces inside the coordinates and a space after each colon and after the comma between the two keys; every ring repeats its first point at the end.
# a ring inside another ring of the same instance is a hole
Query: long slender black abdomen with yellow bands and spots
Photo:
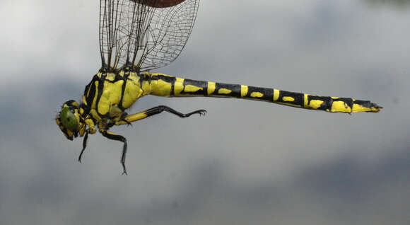
{"type": "Polygon", "coordinates": [[[243,98],[278,103],[297,108],[324,110],[329,113],[355,113],[380,111],[379,105],[368,100],[313,96],[305,93],[281,91],[274,88],[261,88],[232,83],[197,81],[182,79],[165,74],[150,74],[151,94],[165,97],[216,97],[243,98]]]}

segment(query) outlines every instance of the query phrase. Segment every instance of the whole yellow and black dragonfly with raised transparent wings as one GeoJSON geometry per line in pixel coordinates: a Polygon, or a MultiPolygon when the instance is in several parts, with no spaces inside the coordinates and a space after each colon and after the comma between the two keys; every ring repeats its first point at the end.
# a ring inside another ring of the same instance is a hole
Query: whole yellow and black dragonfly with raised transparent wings
{"type": "Polygon", "coordinates": [[[101,68],[86,86],[82,100],[67,100],[55,118],[65,137],[83,137],[81,162],[88,134],[98,131],[122,146],[122,174],[127,174],[127,139],[110,127],[131,125],[159,113],[185,118],[205,115],[200,109],[180,113],[159,105],[139,113],[126,110],[147,95],[162,97],[242,98],[278,103],[329,113],[377,113],[382,108],[369,100],[315,96],[233,83],[197,81],[151,73],[165,67],[182,52],[197,17],[199,0],[100,0],[101,68]]]}

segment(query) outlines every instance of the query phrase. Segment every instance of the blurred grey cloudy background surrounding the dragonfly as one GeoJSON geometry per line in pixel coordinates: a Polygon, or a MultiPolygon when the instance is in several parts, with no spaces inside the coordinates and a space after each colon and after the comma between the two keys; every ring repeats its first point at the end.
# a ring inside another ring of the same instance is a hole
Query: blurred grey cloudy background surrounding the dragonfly
{"type": "Polygon", "coordinates": [[[100,68],[99,1],[0,2],[0,224],[410,224],[409,1],[203,0],[157,71],[372,100],[353,115],[219,98],[67,140],[59,106],[100,68]]]}

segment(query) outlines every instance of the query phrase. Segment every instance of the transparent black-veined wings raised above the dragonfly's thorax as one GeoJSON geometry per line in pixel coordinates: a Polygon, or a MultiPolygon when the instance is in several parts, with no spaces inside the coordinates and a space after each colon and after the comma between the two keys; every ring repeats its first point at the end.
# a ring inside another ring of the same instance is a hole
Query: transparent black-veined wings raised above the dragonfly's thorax
{"type": "Polygon", "coordinates": [[[102,67],[164,67],[185,47],[199,0],[100,0],[102,67]]]}

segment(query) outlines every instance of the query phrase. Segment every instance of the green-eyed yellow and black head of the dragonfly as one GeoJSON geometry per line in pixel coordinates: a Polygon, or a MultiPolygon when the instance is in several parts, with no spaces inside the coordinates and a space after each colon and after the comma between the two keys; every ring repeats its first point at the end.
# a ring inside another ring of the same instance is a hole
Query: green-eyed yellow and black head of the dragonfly
{"type": "Polygon", "coordinates": [[[62,106],[61,111],[56,117],[57,125],[61,132],[64,133],[67,139],[73,140],[73,137],[78,136],[83,123],[80,120],[80,107],[75,100],[67,100],[62,106]]]}

